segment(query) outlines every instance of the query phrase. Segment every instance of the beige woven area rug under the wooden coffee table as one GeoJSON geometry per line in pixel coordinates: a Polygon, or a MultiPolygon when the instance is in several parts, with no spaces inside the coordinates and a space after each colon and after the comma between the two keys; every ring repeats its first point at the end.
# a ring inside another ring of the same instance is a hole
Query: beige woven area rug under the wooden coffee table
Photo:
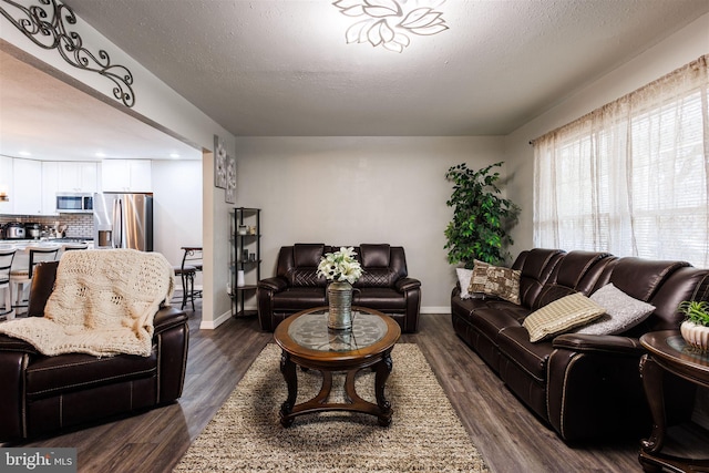
{"type": "MultiPolygon", "coordinates": [[[[174,471],[487,472],[419,347],[397,345],[392,360],[389,428],[373,415],[326,412],[298,417],[285,429],[280,348],[268,345],[174,471]]],[[[320,381],[318,371],[298,370],[297,403],[312,398],[320,381]]],[[[342,382],[337,376],[332,390],[342,382]]],[[[361,371],[357,392],[373,401],[373,373],[361,371]]]]}

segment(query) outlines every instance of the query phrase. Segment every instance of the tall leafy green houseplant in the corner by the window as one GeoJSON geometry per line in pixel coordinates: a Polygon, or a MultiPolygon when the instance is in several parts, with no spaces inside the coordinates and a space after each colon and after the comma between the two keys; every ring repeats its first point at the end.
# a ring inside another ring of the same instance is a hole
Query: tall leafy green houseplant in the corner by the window
{"type": "Polygon", "coordinates": [[[491,164],[480,171],[470,169],[465,163],[452,166],[445,178],[453,183],[453,194],[445,203],[453,207],[453,220],[445,228],[448,260],[472,268],[473,260],[499,265],[505,261],[512,245],[507,229],[517,220],[520,207],[500,196],[500,173],[491,164]]]}

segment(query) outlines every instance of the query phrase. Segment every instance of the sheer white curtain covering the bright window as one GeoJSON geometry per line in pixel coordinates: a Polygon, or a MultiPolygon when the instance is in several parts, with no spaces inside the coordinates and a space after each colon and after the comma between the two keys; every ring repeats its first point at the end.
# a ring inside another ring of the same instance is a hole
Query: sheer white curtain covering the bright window
{"type": "Polygon", "coordinates": [[[705,55],[534,141],[534,245],[709,267],[705,55]]]}

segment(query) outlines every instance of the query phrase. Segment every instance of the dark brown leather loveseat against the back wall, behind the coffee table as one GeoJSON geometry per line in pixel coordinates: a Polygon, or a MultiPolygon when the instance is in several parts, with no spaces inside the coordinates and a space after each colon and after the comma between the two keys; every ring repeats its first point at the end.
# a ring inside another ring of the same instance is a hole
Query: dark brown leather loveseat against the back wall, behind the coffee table
{"type": "MultiPolygon", "coordinates": [[[[340,247],[325,244],[284,246],[278,254],[276,276],[258,281],[258,320],[261,329],[275,330],[286,317],[300,310],[327,306],[327,280],[318,277],[320,258],[340,247]]],[[[419,327],[421,281],[408,277],[407,257],[400,246],[362,244],[354,247],[364,270],[354,282],[352,305],[392,317],[401,330],[419,327]]]]}

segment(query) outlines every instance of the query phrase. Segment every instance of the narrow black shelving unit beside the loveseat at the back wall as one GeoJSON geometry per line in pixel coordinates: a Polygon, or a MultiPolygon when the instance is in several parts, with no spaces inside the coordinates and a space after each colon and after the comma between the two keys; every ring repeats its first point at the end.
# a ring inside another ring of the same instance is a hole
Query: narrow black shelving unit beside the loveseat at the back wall
{"type": "Polygon", "coordinates": [[[261,210],[236,207],[232,217],[232,316],[254,316],[256,310],[246,310],[245,302],[256,297],[261,278],[261,210]],[[244,271],[243,285],[238,271],[244,271]]]}

